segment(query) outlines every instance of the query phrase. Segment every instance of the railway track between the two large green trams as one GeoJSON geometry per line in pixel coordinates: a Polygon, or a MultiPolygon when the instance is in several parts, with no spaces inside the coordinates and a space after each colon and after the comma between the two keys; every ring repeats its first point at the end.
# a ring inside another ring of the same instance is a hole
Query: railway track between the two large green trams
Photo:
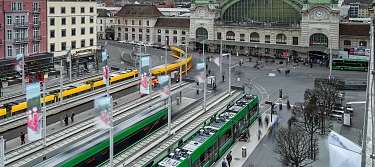
{"type": "MultiPolygon", "coordinates": [[[[164,151],[167,145],[176,143],[182,137],[197,129],[197,127],[206,121],[208,118],[219,112],[221,109],[227,106],[227,104],[240,95],[239,91],[233,91],[232,96],[229,96],[225,92],[215,96],[219,98],[211,98],[207,104],[207,111],[202,111],[201,106],[195,107],[190,112],[186,112],[184,115],[179,116],[177,119],[172,121],[172,134],[168,134],[168,127],[163,127],[154,134],[144,138],[137,144],[129,147],[123,152],[116,155],[113,159],[114,166],[144,166],[147,163],[146,159],[152,159],[157,153],[151,153],[146,155],[150,150],[157,150],[158,152],[164,151]],[[142,159],[142,161],[141,161],[142,159]],[[142,163],[142,165],[137,163],[142,163]]],[[[109,162],[102,164],[102,166],[110,166],[109,162]]]]}

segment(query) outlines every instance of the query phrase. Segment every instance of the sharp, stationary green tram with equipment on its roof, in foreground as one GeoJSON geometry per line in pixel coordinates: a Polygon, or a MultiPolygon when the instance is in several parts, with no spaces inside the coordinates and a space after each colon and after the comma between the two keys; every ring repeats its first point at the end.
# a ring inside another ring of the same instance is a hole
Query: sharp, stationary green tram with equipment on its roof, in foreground
{"type": "Polygon", "coordinates": [[[208,167],[232,146],[259,117],[259,98],[244,95],[210,119],[181,146],[153,164],[157,167],[208,167]]]}

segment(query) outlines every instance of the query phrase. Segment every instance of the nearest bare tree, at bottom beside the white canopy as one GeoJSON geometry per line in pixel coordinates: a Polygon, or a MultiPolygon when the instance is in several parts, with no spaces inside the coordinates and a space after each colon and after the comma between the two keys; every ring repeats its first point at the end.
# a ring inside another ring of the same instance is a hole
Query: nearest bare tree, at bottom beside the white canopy
{"type": "Polygon", "coordinates": [[[280,161],[293,167],[303,167],[311,164],[310,137],[299,128],[279,128],[276,132],[275,152],[280,155],[280,161]]]}

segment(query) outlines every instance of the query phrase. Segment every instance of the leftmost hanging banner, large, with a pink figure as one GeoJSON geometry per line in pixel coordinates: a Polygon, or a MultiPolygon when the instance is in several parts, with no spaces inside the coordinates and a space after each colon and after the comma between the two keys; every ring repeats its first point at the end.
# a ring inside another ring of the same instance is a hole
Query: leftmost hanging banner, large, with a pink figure
{"type": "Polygon", "coordinates": [[[40,108],[40,84],[26,86],[27,100],[27,136],[29,141],[42,138],[42,110],[40,108]]]}

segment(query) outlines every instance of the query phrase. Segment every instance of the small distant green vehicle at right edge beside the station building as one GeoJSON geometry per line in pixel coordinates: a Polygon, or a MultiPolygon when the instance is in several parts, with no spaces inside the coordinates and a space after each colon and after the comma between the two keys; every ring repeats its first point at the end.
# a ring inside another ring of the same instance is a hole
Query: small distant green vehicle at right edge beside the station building
{"type": "Polygon", "coordinates": [[[333,70],[342,71],[367,71],[368,70],[368,60],[367,59],[348,59],[340,58],[332,60],[333,70]]]}

